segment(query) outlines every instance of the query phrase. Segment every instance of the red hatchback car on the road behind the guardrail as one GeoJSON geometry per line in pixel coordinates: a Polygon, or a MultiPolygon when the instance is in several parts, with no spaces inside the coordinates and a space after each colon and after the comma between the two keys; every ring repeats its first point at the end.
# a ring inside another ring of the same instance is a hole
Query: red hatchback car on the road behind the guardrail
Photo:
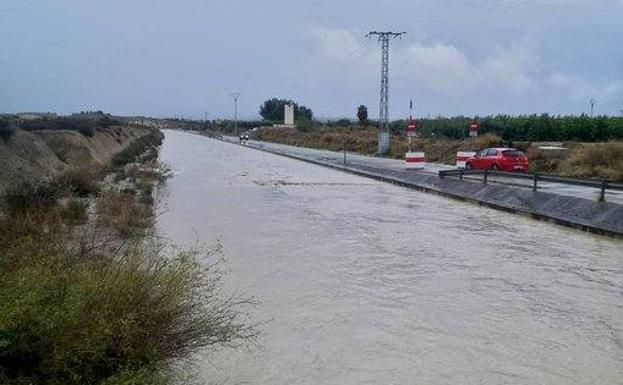
{"type": "Polygon", "coordinates": [[[465,163],[468,170],[528,171],[528,157],[514,148],[485,148],[465,163]]]}

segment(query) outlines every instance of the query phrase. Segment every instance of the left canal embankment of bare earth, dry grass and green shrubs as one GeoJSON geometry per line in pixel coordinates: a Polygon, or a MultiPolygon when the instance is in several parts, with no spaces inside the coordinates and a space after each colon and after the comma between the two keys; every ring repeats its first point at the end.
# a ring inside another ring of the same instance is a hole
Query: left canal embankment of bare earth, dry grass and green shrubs
{"type": "Polygon", "coordinates": [[[127,127],[5,142],[2,155],[41,152],[13,157],[6,174],[34,172],[0,192],[0,383],[173,384],[178,362],[254,335],[238,321],[247,301],[220,290],[218,247],[155,234],[163,139],[127,127]]]}

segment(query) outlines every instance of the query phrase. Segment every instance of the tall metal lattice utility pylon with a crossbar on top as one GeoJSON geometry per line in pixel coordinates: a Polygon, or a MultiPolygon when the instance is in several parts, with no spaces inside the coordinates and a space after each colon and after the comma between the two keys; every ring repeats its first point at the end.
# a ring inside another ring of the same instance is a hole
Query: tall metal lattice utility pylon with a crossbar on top
{"type": "Polygon", "coordinates": [[[375,37],[381,43],[381,98],[379,102],[379,147],[377,153],[389,151],[389,41],[406,32],[369,32],[366,37],[375,37]]]}

